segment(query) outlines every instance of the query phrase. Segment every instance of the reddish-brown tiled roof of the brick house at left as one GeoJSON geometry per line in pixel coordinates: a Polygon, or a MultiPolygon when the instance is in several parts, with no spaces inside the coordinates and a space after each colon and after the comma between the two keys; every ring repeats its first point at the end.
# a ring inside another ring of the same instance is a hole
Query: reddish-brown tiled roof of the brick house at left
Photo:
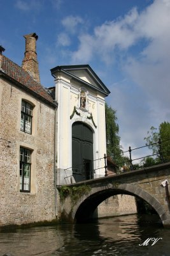
{"type": "Polygon", "coordinates": [[[2,56],[1,70],[7,76],[11,77],[26,88],[29,88],[34,93],[37,93],[38,96],[40,95],[42,99],[53,103],[52,97],[46,92],[45,88],[43,88],[41,84],[37,83],[27,71],[10,59],[6,58],[4,55],[2,56]]]}

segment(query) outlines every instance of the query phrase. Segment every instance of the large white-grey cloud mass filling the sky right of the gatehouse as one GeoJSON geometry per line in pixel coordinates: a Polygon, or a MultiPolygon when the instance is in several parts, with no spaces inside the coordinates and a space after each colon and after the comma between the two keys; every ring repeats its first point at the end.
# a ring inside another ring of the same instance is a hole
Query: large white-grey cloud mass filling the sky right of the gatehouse
{"type": "Polygon", "coordinates": [[[96,60],[110,66],[119,65],[124,76],[131,80],[134,92],[132,95],[127,92],[124,103],[120,99],[124,98],[125,90],[117,89],[121,97],[119,95],[116,107],[116,95],[110,96],[113,108],[121,113],[118,116],[120,125],[127,128],[123,134],[126,141],[130,134],[131,140],[143,138],[148,131],[146,127],[149,129],[151,125],[170,120],[169,24],[170,0],[155,0],[141,13],[133,8],[124,17],[94,28],[92,34],[81,34],[78,49],[72,52],[74,63],[96,60]],[[142,95],[136,95],[137,87],[142,95]]]}

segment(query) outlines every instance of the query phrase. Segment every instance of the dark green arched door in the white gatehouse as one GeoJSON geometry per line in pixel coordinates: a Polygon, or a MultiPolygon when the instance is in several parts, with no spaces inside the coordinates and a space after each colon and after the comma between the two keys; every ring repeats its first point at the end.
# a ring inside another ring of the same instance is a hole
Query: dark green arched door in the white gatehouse
{"type": "Polygon", "coordinates": [[[81,122],[72,125],[72,166],[76,182],[93,179],[93,132],[81,122]]]}

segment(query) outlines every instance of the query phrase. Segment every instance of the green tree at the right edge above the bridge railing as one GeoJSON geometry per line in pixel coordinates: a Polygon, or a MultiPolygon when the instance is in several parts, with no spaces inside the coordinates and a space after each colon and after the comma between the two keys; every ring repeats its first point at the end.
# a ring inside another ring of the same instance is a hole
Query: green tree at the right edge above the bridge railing
{"type": "MultiPolygon", "coordinates": [[[[170,161],[170,123],[162,122],[159,129],[151,127],[148,136],[144,138],[146,145],[156,154],[155,163],[170,161]],[[159,143],[160,142],[160,143],[159,143]]],[[[150,159],[148,161],[151,161],[150,159]]]]}

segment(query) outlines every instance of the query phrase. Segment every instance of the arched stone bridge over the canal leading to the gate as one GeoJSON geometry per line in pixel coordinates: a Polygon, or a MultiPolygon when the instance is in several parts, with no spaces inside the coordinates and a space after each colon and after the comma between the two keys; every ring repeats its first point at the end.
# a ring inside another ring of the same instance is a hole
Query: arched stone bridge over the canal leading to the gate
{"type": "MultiPolygon", "coordinates": [[[[170,162],[67,185],[64,186],[65,196],[60,200],[60,218],[65,221],[88,221],[92,218],[96,207],[106,198],[126,194],[141,198],[152,205],[164,227],[170,227],[168,182],[170,182],[170,162]],[[162,185],[165,180],[167,180],[166,186],[162,185]],[[83,194],[81,188],[87,188],[83,194]],[[78,193],[74,201],[72,192],[78,193]]],[[[58,189],[62,190],[61,187],[58,189]]]]}

